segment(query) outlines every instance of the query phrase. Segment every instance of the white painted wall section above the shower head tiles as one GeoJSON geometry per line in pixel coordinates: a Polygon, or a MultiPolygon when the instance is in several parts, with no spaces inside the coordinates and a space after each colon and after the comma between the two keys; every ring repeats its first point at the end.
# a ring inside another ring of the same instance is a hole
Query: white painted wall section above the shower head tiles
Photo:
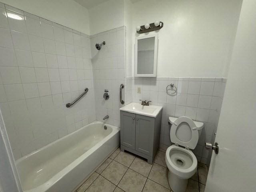
{"type": "Polygon", "coordinates": [[[109,0],[89,10],[90,34],[124,26],[124,0],[109,0]]]}

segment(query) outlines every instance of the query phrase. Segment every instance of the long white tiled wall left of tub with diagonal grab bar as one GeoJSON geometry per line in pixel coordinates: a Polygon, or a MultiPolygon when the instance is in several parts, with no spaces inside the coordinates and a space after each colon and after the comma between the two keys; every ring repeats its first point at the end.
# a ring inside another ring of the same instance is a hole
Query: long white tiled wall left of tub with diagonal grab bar
{"type": "Polygon", "coordinates": [[[90,37],[4,4],[0,13],[0,108],[17,159],[96,119],[90,37]]]}

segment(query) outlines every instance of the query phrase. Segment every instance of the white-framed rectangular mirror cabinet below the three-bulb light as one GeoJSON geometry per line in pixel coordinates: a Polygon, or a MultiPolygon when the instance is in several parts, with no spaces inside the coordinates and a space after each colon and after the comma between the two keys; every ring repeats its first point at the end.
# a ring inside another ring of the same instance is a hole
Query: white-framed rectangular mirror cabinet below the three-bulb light
{"type": "Polygon", "coordinates": [[[156,77],[157,45],[157,34],[136,38],[135,76],[156,77]]]}

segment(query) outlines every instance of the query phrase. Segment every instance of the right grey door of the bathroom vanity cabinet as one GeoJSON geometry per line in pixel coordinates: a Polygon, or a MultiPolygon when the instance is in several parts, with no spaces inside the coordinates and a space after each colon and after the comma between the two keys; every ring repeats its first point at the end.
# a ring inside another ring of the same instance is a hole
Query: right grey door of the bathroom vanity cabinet
{"type": "Polygon", "coordinates": [[[135,150],[152,156],[154,143],[155,118],[136,115],[135,150]]]}

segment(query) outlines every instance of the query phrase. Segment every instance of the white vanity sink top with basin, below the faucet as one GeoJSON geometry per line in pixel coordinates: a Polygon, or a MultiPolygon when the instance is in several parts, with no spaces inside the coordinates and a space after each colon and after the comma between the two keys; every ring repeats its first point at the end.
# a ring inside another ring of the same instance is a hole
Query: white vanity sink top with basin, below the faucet
{"type": "Polygon", "coordinates": [[[141,105],[140,103],[130,103],[120,108],[120,111],[126,111],[130,113],[156,117],[158,113],[162,110],[162,108],[163,108],[162,106],[156,106],[156,105],[144,106],[144,105],[141,105]]]}

